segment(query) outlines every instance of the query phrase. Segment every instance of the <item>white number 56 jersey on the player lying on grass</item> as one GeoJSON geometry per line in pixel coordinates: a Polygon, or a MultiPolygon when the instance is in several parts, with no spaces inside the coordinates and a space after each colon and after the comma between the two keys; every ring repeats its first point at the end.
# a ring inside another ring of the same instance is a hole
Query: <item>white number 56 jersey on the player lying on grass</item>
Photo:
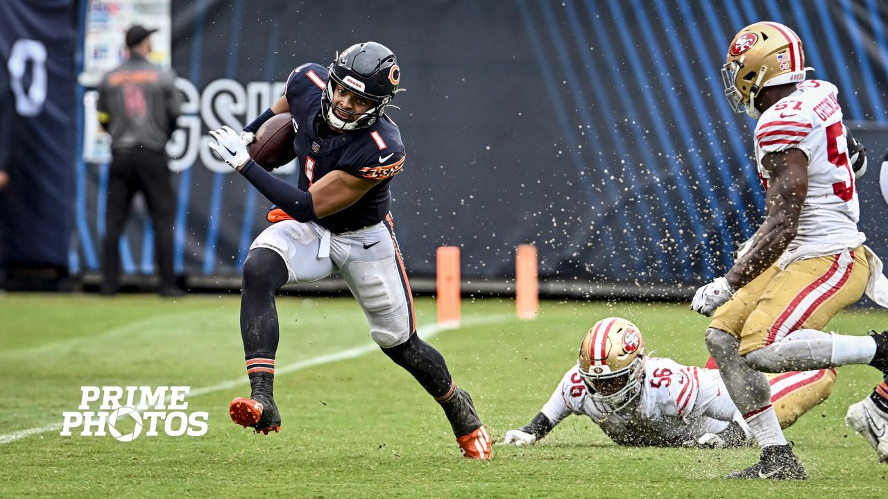
{"type": "Polygon", "coordinates": [[[678,446],[723,432],[737,409],[718,370],[649,357],[638,402],[620,412],[593,399],[577,367],[567,371],[541,412],[552,424],[571,414],[591,417],[618,444],[678,446]]]}

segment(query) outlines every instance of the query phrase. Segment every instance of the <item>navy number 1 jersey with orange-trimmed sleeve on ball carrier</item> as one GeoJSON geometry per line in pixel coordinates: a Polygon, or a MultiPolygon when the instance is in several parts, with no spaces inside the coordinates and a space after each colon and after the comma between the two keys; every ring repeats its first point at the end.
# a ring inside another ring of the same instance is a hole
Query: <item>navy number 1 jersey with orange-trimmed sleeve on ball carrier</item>
{"type": "Polygon", "coordinates": [[[328,139],[319,137],[316,118],[321,114],[321,94],[327,77],[326,67],[304,64],[287,78],[285,95],[296,128],[293,149],[299,166],[299,188],[307,191],[332,170],[383,180],[352,206],[318,219],[321,226],[338,234],[385,219],[392,202],[389,183],[403,166],[405,156],[398,126],[385,115],[368,128],[334,134],[328,139]]]}

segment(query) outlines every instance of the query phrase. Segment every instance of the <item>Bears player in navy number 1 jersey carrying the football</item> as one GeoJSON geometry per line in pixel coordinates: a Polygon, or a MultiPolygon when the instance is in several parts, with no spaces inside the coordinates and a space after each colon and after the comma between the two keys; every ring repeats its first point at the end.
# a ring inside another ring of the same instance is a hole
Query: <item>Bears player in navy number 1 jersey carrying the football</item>
{"type": "Polygon", "coordinates": [[[210,147],[277,208],[243,264],[241,335],[250,399],[229,413],[256,432],[280,429],[274,404],[278,317],[274,293],[287,282],[342,274],[370,326],[370,337],[440,403],[467,458],[488,459],[490,438],[472,398],[454,383],[440,352],[416,336],[413,300],[395,240],[389,183],[404,164],[398,126],[385,107],[399,91],[400,67],[381,44],[355,44],[330,67],[305,64],[287,79],[281,99],[238,136],[210,131],[210,147]],[[247,145],[262,123],[289,113],[296,130],[298,186],[250,159],[247,145]]]}

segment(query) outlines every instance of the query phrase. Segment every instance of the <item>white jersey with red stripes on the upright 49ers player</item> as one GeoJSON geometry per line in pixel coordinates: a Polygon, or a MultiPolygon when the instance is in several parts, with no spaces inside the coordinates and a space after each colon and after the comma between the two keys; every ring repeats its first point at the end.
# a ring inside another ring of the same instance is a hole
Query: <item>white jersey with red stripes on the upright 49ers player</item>
{"type": "Polygon", "coordinates": [[[797,91],[761,115],[755,135],[758,174],[765,188],[770,178],[762,167],[765,154],[796,147],[808,157],[808,193],[796,238],[781,265],[855,248],[865,239],[857,230],[860,207],[836,85],[805,80],[796,86],[797,91]]]}

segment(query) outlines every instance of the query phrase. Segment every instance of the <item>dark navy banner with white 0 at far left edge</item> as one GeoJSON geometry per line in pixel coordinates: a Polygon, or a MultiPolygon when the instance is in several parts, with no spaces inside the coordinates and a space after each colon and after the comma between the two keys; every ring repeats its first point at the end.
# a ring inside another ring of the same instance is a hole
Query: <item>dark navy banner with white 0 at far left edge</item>
{"type": "Polygon", "coordinates": [[[0,101],[9,184],[0,192],[0,245],[12,269],[67,274],[75,157],[74,1],[0,2],[0,101]]]}

